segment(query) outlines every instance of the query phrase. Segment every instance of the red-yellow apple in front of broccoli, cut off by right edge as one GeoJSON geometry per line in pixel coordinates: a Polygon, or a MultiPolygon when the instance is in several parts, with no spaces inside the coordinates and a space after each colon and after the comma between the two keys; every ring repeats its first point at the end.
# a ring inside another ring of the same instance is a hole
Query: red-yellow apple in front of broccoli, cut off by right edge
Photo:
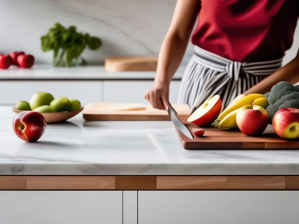
{"type": "Polygon", "coordinates": [[[299,137],[299,109],[281,108],[273,117],[272,127],[274,132],[287,139],[299,137]]]}

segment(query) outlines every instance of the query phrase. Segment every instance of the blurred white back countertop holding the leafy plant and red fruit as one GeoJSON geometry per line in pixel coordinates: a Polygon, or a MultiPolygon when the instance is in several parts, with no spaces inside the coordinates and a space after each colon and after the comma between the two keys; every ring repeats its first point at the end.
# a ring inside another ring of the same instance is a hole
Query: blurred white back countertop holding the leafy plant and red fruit
{"type": "MultiPolygon", "coordinates": [[[[173,76],[173,80],[181,80],[184,66],[173,76]]],[[[153,80],[156,72],[107,72],[104,66],[52,67],[34,65],[31,69],[10,67],[0,70],[0,80],[153,80]]]]}

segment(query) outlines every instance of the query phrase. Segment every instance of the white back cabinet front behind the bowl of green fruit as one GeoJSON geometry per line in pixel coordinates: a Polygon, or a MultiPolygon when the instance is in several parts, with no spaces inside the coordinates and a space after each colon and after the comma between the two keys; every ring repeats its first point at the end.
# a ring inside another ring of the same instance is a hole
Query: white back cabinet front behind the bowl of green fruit
{"type": "Polygon", "coordinates": [[[49,92],[54,98],[79,99],[85,106],[102,101],[101,85],[101,81],[0,81],[0,105],[15,105],[20,100],[29,102],[35,92],[49,92]]]}

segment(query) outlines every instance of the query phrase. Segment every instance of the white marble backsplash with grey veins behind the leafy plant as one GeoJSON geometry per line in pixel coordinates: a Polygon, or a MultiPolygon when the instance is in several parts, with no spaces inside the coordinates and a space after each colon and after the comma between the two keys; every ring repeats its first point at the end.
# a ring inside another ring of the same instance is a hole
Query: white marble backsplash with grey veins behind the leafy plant
{"type": "MultiPolygon", "coordinates": [[[[60,22],[103,40],[99,51],[83,53],[89,64],[102,64],[109,56],[158,55],[175,4],[176,0],[1,0],[0,53],[24,50],[38,63],[51,64],[52,53],[42,53],[39,38],[60,22]]],[[[294,40],[284,64],[298,51],[299,28],[294,40]]],[[[189,43],[182,67],[192,52],[189,43]]]]}

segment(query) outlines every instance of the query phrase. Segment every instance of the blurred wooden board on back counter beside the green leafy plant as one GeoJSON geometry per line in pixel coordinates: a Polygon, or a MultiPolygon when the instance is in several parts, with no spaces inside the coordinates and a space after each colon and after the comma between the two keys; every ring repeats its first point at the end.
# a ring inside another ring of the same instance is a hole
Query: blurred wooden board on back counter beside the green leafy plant
{"type": "Polygon", "coordinates": [[[105,69],[117,71],[156,71],[158,57],[111,57],[105,59],[105,69]]]}

